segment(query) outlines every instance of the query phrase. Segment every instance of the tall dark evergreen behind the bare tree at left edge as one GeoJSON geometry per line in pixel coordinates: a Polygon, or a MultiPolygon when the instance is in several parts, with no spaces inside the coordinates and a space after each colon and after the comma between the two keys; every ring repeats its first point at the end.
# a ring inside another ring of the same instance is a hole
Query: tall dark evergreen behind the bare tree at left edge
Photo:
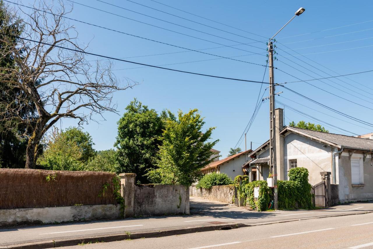
{"type": "MultiPolygon", "coordinates": [[[[20,36],[23,31],[21,19],[14,16],[9,7],[0,1],[0,32],[8,35],[20,36]]],[[[9,36],[8,36],[9,37],[9,36]]],[[[4,68],[16,68],[14,57],[9,52],[9,46],[14,46],[18,39],[9,37],[4,41],[4,35],[0,34],[0,73],[4,68]]],[[[10,80],[10,78],[8,78],[10,80]]],[[[35,82],[35,85],[40,81],[35,82]]],[[[22,96],[19,88],[12,87],[3,80],[0,83],[0,113],[4,120],[0,122],[0,168],[23,168],[25,166],[25,154],[30,131],[27,125],[19,123],[17,118],[9,112],[3,112],[8,106],[17,108],[16,116],[25,118],[35,115],[36,108],[31,102],[27,105],[19,105],[17,98],[22,96]]]]}

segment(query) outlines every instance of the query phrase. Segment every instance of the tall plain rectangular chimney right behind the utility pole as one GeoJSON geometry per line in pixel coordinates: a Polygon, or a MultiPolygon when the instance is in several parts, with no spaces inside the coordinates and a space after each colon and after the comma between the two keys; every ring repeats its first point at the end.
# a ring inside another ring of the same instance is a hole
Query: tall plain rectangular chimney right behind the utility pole
{"type": "Polygon", "coordinates": [[[287,179],[287,169],[285,169],[284,161],[284,143],[285,139],[280,136],[280,131],[283,129],[283,109],[275,109],[275,146],[276,146],[276,165],[277,165],[277,179],[286,180],[287,179]],[[285,178],[286,177],[286,178],[285,178]]]}

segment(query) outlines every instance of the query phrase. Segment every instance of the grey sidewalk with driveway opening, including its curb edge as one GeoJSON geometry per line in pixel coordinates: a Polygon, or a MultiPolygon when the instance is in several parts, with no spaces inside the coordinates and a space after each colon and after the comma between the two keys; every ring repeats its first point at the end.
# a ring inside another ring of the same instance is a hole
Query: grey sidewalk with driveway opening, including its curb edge
{"type": "MultiPolygon", "coordinates": [[[[0,229],[0,248],[25,243],[22,248],[48,248],[77,245],[83,240],[122,240],[174,234],[232,229],[310,218],[373,212],[372,202],[348,203],[326,209],[256,212],[198,197],[190,198],[190,215],[141,217],[125,220],[92,221],[0,229]],[[35,245],[35,243],[39,243],[35,245]]],[[[12,247],[14,248],[14,247],[12,247]]],[[[18,247],[21,248],[21,247],[18,247]]]]}

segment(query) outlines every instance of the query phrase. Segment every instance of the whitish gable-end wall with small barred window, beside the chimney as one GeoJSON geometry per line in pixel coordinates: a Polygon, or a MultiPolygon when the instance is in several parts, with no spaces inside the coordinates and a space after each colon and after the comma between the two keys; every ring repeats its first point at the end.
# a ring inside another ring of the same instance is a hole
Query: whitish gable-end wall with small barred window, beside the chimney
{"type": "MultiPolygon", "coordinates": [[[[332,148],[298,134],[285,137],[285,180],[287,180],[290,159],[297,159],[297,166],[308,169],[308,179],[312,185],[321,181],[320,172],[332,172],[332,148]]],[[[283,180],[283,179],[280,179],[283,180]]]]}

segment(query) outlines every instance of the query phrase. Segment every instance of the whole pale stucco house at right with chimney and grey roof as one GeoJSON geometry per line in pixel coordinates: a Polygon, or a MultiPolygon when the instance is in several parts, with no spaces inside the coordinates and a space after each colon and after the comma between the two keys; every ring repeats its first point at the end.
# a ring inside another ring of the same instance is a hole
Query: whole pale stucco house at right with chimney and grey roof
{"type": "MultiPolygon", "coordinates": [[[[276,109],[276,166],[278,180],[288,171],[304,167],[309,182],[321,181],[320,172],[332,172],[340,202],[373,199],[373,140],[283,126],[283,110],[276,109]]],[[[269,141],[250,153],[242,166],[250,181],[269,175],[269,141]]]]}

